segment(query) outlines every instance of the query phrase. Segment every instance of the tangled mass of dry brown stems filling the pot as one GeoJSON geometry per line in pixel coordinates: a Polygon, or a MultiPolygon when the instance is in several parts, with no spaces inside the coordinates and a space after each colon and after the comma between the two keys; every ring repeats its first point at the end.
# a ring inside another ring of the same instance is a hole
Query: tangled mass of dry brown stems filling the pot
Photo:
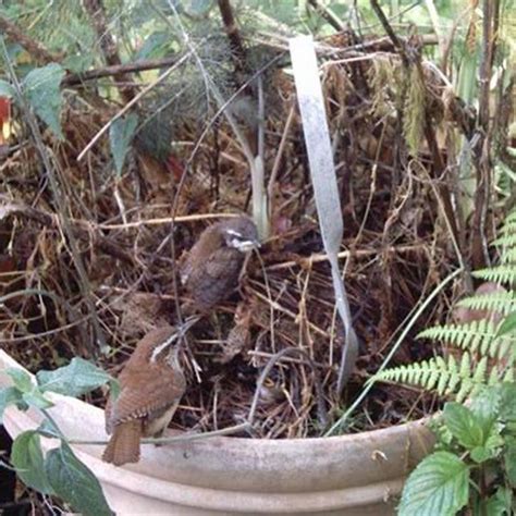
{"type": "MultiPolygon", "coordinates": [[[[345,228],[341,265],[360,341],[351,382],[336,393],[344,337],[294,88],[275,70],[265,156],[266,171],[278,170],[269,191],[272,237],[260,259],[251,256],[239,291],[188,332],[188,389],[174,417],[177,428],[207,431],[242,422],[271,357],[298,348],[304,354],[278,359],[260,386],[250,435],[321,435],[378,370],[411,309],[454,265],[435,201],[440,180],[420,142],[421,103],[442,119],[444,88],[429,72],[427,83],[413,82],[414,90],[400,102],[397,58],[369,52],[370,59],[328,60],[323,77],[345,228]],[[385,85],[385,77],[393,83],[385,85]]],[[[179,259],[218,213],[247,210],[249,172],[222,119],[195,157],[192,149],[202,127],[193,120],[174,127],[176,145],[164,160],[136,147],[121,176],[112,171],[107,142],[77,162],[114,113],[111,106],[69,103],[65,143],[44,135],[59,196],[30,144],[0,165],[0,294],[7,296],[0,310],[2,346],[32,370],[59,367],[81,355],[116,373],[139,337],[176,321],[176,305],[185,297],[174,287],[173,257],[179,259]]],[[[432,354],[414,336],[449,311],[451,297],[449,291],[437,298],[394,363],[432,354]]],[[[93,402],[103,404],[100,395],[93,402]]],[[[417,418],[434,403],[417,390],[377,385],[342,430],[417,418]]]]}

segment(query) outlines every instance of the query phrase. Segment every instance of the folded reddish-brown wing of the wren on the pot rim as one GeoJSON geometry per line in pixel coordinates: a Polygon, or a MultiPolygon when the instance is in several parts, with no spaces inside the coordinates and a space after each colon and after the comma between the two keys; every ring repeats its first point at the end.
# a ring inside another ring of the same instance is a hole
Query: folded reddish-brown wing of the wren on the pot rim
{"type": "Polygon", "coordinates": [[[110,407],[110,427],[169,407],[181,400],[186,389],[185,378],[177,370],[164,373],[162,367],[147,367],[132,370],[125,378],[123,372],[122,390],[110,407]]]}

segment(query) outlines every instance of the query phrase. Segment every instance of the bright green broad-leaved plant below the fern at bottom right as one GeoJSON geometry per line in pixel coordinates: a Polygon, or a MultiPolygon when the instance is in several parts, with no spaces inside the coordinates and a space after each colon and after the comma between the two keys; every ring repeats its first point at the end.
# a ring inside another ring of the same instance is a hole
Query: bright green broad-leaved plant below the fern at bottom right
{"type": "Polygon", "coordinates": [[[474,514],[514,514],[515,396],[516,385],[502,383],[483,388],[469,407],[445,404],[437,431],[439,451],[410,474],[400,515],[452,516],[466,504],[477,507],[474,514]]]}

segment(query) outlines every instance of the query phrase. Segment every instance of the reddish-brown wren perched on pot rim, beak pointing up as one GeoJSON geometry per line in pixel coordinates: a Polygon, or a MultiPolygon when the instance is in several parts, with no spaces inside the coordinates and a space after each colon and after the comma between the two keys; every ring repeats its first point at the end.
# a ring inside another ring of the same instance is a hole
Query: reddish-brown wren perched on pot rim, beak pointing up
{"type": "Polygon", "coordinates": [[[120,393],[106,405],[106,431],[112,434],[102,455],[107,463],[137,463],[140,438],[159,437],[169,426],[186,389],[180,345],[170,346],[197,320],[180,330],[158,328],[136,344],[119,374],[120,393]]]}

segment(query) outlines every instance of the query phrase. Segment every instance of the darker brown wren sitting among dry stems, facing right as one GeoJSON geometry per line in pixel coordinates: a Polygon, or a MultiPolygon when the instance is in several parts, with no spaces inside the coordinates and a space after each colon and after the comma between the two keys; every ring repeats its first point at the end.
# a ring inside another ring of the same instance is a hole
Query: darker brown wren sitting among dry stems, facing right
{"type": "Polygon", "coordinates": [[[230,296],[238,284],[246,253],[259,245],[256,225],[247,217],[207,228],[181,267],[181,283],[196,307],[207,310],[230,296]]]}

